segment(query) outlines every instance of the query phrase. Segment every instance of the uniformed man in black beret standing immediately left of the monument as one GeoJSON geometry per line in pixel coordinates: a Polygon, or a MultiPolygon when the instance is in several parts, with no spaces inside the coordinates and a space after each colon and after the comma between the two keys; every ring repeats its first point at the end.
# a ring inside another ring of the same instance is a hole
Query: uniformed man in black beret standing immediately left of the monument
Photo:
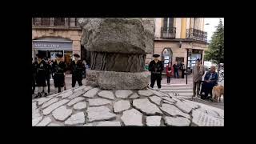
{"type": "Polygon", "coordinates": [[[72,87],[75,86],[75,83],[78,81],[78,85],[82,86],[82,72],[85,70],[85,65],[82,61],[78,60],[80,55],[74,54],[74,61],[70,63],[70,70],[72,74],[72,87]]]}

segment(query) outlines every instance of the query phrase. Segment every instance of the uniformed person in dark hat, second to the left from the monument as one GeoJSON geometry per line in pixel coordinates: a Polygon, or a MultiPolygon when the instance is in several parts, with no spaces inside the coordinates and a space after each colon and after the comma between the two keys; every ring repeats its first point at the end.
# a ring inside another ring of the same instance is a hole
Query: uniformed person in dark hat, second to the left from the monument
{"type": "Polygon", "coordinates": [[[56,61],[52,64],[52,73],[54,75],[55,93],[60,93],[64,90],[66,63],[62,61],[62,54],[58,53],[56,57],[56,61]]]}

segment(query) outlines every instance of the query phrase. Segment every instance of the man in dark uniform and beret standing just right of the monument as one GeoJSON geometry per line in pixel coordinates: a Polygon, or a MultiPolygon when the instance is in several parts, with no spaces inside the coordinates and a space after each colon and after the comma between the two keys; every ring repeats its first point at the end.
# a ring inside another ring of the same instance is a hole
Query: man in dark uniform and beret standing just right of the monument
{"type": "Polygon", "coordinates": [[[154,60],[152,60],[150,62],[150,65],[149,65],[149,71],[151,71],[150,89],[153,89],[154,82],[157,81],[158,90],[160,90],[161,89],[163,65],[162,65],[162,61],[160,61],[158,59],[160,57],[159,54],[154,54],[153,57],[154,57],[154,60]]]}

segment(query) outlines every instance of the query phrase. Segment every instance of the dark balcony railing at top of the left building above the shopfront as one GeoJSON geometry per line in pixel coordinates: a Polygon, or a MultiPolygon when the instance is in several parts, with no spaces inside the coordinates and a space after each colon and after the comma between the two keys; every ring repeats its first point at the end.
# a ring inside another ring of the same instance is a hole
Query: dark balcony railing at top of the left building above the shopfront
{"type": "Polygon", "coordinates": [[[78,18],[32,18],[36,30],[80,30],[78,18]]]}

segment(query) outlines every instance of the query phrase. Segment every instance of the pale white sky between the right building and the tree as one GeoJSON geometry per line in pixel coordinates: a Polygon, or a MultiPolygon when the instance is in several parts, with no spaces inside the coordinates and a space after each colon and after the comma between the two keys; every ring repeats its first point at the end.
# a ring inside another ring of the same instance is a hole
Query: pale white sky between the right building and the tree
{"type": "Polygon", "coordinates": [[[222,19],[224,26],[224,18],[205,18],[205,24],[209,23],[209,25],[205,25],[204,30],[207,32],[207,41],[210,42],[211,36],[214,34],[216,30],[215,26],[218,26],[219,19],[222,19]]]}

